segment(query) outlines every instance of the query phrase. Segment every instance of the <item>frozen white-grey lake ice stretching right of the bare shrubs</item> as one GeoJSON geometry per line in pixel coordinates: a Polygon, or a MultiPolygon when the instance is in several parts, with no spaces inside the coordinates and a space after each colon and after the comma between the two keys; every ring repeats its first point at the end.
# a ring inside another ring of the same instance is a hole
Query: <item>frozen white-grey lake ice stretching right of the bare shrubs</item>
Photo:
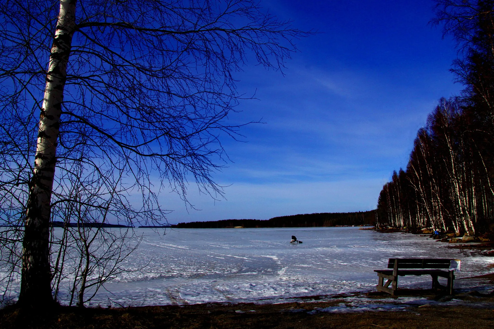
{"type": "MultiPolygon", "coordinates": [[[[166,235],[136,230],[145,236],[124,267],[149,265],[120,274],[105,285],[108,291],[96,294],[93,305],[263,303],[373,291],[377,284],[373,270],[384,269],[390,257],[458,258],[461,272],[456,274],[460,280],[455,280],[455,289],[492,289],[486,281],[461,278],[489,273],[487,264],[494,263],[494,257],[445,248],[444,243],[412,234],[358,227],[189,228],[167,229],[166,235]],[[303,244],[290,244],[291,235],[303,244]]],[[[430,276],[399,279],[400,287],[429,288],[430,284],[430,276]]],[[[60,298],[67,302],[66,288],[62,287],[60,298]]]]}

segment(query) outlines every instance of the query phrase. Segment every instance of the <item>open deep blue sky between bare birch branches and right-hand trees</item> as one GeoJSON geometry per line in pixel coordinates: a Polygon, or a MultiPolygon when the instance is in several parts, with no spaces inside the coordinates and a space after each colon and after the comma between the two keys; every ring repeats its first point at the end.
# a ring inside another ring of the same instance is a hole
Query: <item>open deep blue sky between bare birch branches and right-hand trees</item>
{"type": "Polygon", "coordinates": [[[215,175],[226,200],[173,194],[170,222],[269,219],[374,209],[382,185],[405,167],[418,128],[441,97],[462,89],[448,71],[453,41],[427,25],[434,2],[263,0],[280,19],[319,34],[297,42],[285,76],[258,66],[237,74],[240,104],[232,122],[246,143],[225,140],[233,161],[215,175]]]}

